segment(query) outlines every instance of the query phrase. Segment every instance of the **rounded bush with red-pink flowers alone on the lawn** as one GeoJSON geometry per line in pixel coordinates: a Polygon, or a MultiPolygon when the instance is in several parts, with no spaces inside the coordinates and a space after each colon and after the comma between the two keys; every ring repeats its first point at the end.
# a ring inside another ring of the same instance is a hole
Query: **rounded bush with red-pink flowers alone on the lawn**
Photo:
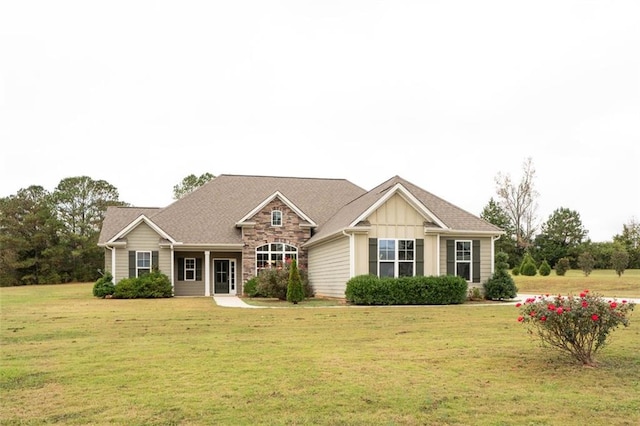
{"type": "Polygon", "coordinates": [[[543,345],[566,352],[584,365],[594,366],[593,356],[606,343],[609,333],[628,326],[634,303],[605,300],[589,290],[579,297],[538,296],[516,304],[518,321],[527,324],[543,345]]]}

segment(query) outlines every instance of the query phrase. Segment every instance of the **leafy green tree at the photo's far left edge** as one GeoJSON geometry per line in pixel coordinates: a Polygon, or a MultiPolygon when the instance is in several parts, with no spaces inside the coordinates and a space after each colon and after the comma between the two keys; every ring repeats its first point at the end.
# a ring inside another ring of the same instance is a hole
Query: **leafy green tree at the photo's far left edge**
{"type": "Polygon", "coordinates": [[[50,253],[61,226],[44,188],[33,185],[2,198],[0,229],[0,285],[60,282],[50,253]]]}

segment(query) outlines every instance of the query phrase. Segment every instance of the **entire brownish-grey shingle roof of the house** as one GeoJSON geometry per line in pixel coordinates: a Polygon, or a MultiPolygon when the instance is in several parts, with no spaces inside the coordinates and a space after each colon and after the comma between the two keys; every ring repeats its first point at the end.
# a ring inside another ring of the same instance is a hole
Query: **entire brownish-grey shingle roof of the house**
{"type": "Polygon", "coordinates": [[[501,232],[399,176],[367,192],[345,179],[220,175],[162,209],[109,207],[99,244],[109,241],[141,214],[184,244],[240,244],[241,231],[236,223],[276,191],[318,224],[309,241],[312,243],[347,228],[396,184],[408,190],[449,229],[501,232]]]}

